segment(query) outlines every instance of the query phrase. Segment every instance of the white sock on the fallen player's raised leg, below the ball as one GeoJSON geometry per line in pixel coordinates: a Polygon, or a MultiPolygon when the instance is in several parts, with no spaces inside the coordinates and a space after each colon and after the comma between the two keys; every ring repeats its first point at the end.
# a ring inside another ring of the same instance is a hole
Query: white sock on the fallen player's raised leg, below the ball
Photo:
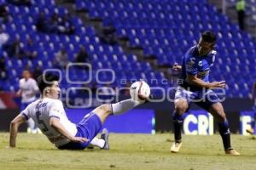
{"type": "Polygon", "coordinates": [[[125,111],[129,111],[137,105],[143,104],[145,101],[139,102],[134,99],[125,99],[118,103],[111,104],[113,115],[119,115],[125,111]]]}

